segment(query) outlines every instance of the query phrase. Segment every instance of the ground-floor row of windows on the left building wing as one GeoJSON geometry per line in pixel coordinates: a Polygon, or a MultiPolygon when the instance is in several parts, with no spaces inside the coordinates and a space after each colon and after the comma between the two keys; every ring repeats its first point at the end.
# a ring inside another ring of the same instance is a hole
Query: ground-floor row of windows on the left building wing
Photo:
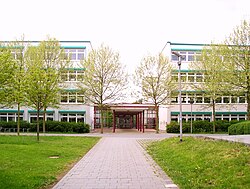
{"type": "MultiPolygon", "coordinates": [[[[37,120],[37,114],[36,113],[30,113],[29,114],[30,122],[34,123],[37,120]]],[[[23,113],[20,115],[20,119],[23,120],[23,113]]],[[[39,115],[39,120],[43,119],[43,114],[39,115]]],[[[84,113],[60,113],[59,114],[59,120],[64,122],[84,122],[85,114],[84,113]]],[[[46,114],[46,121],[53,121],[54,114],[53,113],[47,113],[46,114]]],[[[1,113],[0,114],[0,121],[17,121],[17,113],[1,113]]]]}

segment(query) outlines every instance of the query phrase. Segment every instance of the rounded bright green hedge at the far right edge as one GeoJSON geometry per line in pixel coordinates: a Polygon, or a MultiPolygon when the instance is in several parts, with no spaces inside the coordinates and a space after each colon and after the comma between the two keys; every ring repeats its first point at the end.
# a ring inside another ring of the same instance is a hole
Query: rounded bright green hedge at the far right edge
{"type": "Polygon", "coordinates": [[[228,127],[229,135],[246,135],[250,134],[250,121],[236,123],[228,127]]]}

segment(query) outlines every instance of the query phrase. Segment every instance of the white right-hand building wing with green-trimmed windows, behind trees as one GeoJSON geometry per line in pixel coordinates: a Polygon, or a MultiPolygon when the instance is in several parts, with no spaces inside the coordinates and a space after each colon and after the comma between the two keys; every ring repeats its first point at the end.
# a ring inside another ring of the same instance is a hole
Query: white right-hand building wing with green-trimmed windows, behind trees
{"type": "MultiPolygon", "coordinates": [[[[164,48],[164,54],[169,57],[175,67],[172,77],[178,81],[178,57],[173,52],[179,53],[181,61],[181,83],[182,83],[182,119],[183,121],[208,120],[212,121],[211,99],[206,97],[202,91],[197,91],[192,86],[204,82],[204,73],[192,69],[191,63],[200,60],[201,51],[209,44],[185,44],[168,42],[164,48]]],[[[216,120],[246,120],[247,118],[246,95],[221,96],[216,100],[216,120]]],[[[180,119],[180,108],[178,96],[172,96],[168,105],[167,122],[180,119]]]]}

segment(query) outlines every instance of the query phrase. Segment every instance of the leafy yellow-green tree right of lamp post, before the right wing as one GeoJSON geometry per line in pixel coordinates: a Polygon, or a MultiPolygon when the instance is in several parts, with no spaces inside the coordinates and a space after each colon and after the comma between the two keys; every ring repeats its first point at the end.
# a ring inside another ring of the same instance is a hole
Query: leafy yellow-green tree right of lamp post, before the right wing
{"type": "MultiPolygon", "coordinates": [[[[225,48],[225,45],[211,44],[202,50],[200,60],[191,64],[192,69],[204,74],[204,81],[194,83],[193,88],[203,91],[205,97],[211,99],[208,106],[212,106],[212,121],[215,121],[217,99],[221,98],[223,94],[228,94],[230,90],[223,59],[225,48]]],[[[214,122],[213,132],[215,132],[214,122]]]]}

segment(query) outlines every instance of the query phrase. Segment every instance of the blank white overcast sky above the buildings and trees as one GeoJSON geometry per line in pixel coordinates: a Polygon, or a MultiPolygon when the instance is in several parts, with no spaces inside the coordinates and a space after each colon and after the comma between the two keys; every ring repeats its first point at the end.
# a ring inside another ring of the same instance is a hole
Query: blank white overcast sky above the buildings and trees
{"type": "Polygon", "coordinates": [[[89,40],[109,45],[133,70],[167,41],[222,41],[243,19],[249,0],[6,0],[0,40],[89,40]]]}

